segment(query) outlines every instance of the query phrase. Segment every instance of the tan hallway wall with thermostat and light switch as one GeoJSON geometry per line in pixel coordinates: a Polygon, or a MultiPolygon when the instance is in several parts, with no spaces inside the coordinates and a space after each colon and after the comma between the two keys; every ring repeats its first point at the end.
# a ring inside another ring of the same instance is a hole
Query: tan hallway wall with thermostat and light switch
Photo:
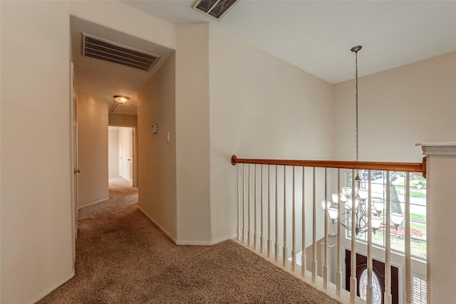
{"type": "Polygon", "coordinates": [[[177,241],[175,134],[173,55],[138,93],[139,206],[173,241],[177,241]],[[152,125],[158,125],[155,134],[152,125]]]}

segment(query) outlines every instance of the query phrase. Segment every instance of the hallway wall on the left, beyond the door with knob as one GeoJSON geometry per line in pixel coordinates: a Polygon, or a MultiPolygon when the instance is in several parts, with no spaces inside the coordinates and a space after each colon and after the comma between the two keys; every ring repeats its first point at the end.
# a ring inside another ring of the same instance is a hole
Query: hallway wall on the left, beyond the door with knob
{"type": "Polygon", "coordinates": [[[109,199],[108,103],[78,95],[78,207],[109,199]]]}

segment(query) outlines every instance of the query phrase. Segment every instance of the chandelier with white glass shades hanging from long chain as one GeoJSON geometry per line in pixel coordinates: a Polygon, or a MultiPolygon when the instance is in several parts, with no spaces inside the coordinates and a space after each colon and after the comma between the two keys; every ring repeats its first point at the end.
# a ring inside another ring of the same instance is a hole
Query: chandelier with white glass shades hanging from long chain
{"type": "MultiPolygon", "coordinates": [[[[360,51],[362,46],[353,46],[351,51],[355,53],[355,67],[356,67],[356,162],[358,162],[358,51],[360,51]]],[[[368,176],[368,178],[371,178],[368,176]]],[[[368,189],[361,188],[361,177],[359,177],[359,170],[356,169],[355,177],[355,189],[353,191],[352,187],[342,187],[341,196],[339,199],[338,194],[332,194],[332,204],[331,201],[322,201],[321,206],[323,210],[328,209],[328,216],[333,221],[338,220],[338,204],[342,204],[343,213],[341,213],[341,225],[348,230],[351,230],[351,225],[348,225],[348,221],[355,221],[355,233],[356,236],[360,233],[368,231],[368,189]],[[354,196],[354,197],[353,197],[354,196]],[[354,204],[354,206],[353,206],[354,204]],[[352,209],[355,208],[355,218],[352,219],[352,209]]],[[[389,181],[387,181],[389,182],[389,181]]],[[[385,201],[380,197],[373,197],[371,199],[372,204],[372,214],[371,216],[371,226],[373,233],[380,228],[382,225],[381,214],[385,207],[385,201]]],[[[402,224],[404,216],[403,214],[397,214],[392,212],[390,214],[390,219],[395,226],[395,229],[398,229],[398,226],[402,224]]]]}

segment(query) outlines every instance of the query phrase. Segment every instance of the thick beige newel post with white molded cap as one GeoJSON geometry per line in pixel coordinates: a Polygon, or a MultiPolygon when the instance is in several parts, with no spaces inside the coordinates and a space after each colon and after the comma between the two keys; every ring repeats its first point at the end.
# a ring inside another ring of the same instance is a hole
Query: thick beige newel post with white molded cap
{"type": "Polygon", "coordinates": [[[456,142],[417,145],[427,159],[427,303],[454,303],[456,142]]]}

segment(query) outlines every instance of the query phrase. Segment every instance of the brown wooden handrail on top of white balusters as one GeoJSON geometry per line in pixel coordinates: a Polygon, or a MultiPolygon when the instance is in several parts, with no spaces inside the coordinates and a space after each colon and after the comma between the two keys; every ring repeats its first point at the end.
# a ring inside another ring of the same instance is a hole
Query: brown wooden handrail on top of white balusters
{"type": "Polygon", "coordinates": [[[423,174],[423,177],[426,177],[426,157],[423,157],[423,162],[346,162],[338,160],[247,159],[237,158],[236,155],[233,155],[231,163],[233,165],[276,164],[280,166],[419,172],[423,174]]]}

